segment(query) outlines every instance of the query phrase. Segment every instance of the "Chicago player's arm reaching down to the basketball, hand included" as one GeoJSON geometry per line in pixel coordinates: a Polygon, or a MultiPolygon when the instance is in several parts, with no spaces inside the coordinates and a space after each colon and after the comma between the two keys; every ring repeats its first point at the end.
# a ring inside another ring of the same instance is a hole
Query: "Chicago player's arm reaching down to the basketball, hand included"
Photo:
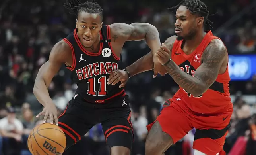
{"type": "Polygon", "coordinates": [[[52,48],[49,60],[41,66],[35,79],[33,93],[37,100],[44,106],[43,111],[37,117],[45,115],[44,123],[50,117],[50,123],[58,125],[57,110],[49,96],[48,87],[52,78],[58,73],[65,60],[68,60],[68,57],[72,57],[72,52],[68,44],[64,41],[56,43],[52,48]]]}

